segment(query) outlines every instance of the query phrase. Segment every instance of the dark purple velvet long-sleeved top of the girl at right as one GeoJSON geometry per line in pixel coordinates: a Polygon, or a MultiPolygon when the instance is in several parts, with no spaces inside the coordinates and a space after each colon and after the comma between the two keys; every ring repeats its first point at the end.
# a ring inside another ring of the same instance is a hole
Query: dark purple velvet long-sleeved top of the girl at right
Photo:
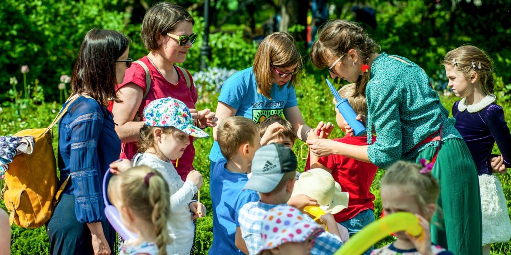
{"type": "Polygon", "coordinates": [[[459,101],[452,107],[454,126],[469,147],[479,175],[492,174],[490,159],[493,144],[497,142],[506,168],[511,167],[511,135],[504,120],[502,107],[491,103],[477,112],[458,111],[459,101]]]}

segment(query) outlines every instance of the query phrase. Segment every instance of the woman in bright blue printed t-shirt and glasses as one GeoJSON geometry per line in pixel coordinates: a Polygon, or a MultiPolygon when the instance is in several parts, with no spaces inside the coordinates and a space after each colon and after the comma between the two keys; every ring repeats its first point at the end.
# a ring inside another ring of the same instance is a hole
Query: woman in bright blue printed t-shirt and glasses
{"type": "MultiPolygon", "coordinates": [[[[243,116],[259,124],[274,115],[288,119],[300,140],[307,140],[311,127],[305,123],[296,100],[294,84],[301,70],[302,58],[295,40],[286,33],[273,33],[266,37],[255,54],[252,67],[233,74],[222,85],[215,111],[218,122],[230,116],[243,116]]],[[[330,133],[332,124],[319,125],[330,133]]],[[[210,151],[210,173],[223,158],[216,142],[210,151]]]]}

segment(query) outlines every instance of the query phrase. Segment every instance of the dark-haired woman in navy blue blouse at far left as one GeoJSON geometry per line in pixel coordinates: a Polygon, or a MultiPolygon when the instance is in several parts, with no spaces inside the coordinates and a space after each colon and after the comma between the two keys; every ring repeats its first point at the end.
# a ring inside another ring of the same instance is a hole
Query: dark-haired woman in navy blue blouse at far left
{"type": "Polygon", "coordinates": [[[71,77],[73,94],[59,122],[58,166],[62,198],[46,225],[50,254],[111,254],[115,230],[105,217],[101,178],[119,159],[108,100],[119,101],[130,40],[116,31],[91,30],[83,39],[71,77]]]}

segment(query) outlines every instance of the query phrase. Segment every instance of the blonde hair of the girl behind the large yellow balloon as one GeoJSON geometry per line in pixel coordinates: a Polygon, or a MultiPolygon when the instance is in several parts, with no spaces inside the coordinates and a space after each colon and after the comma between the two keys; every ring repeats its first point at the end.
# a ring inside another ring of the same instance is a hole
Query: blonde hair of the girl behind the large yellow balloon
{"type": "Polygon", "coordinates": [[[397,185],[406,188],[406,192],[412,195],[421,208],[427,212],[427,206],[436,203],[440,186],[431,173],[421,173],[424,167],[410,162],[398,161],[390,166],[381,181],[381,187],[397,185]]]}

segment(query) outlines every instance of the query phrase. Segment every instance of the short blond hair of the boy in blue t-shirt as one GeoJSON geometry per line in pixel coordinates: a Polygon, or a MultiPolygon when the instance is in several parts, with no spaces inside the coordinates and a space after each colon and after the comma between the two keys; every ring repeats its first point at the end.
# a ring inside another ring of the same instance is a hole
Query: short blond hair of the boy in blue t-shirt
{"type": "Polygon", "coordinates": [[[217,129],[217,142],[225,159],[230,160],[238,153],[243,144],[254,146],[254,136],[258,135],[259,127],[243,116],[231,116],[224,119],[217,129]]]}

